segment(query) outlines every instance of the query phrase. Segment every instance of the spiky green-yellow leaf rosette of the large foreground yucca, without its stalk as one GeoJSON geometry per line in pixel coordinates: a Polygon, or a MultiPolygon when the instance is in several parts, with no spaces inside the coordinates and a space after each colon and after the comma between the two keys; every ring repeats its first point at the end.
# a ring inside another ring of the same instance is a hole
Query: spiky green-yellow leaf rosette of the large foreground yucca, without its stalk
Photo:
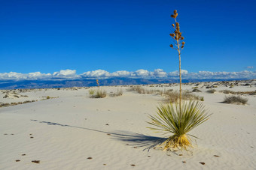
{"type": "Polygon", "coordinates": [[[154,127],[149,128],[158,133],[172,134],[160,145],[164,151],[172,151],[175,148],[187,150],[187,147],[192,147],[189,138],[192,135],[187,133],[207,121],[210,116],[203,103],[192,100],[182,103],[182,107],[179,107],[179,103],[169,103],[160,105],[157,110],[157,115],[149,115],[151,122],[148,124],[153,125],[154,127]]]}

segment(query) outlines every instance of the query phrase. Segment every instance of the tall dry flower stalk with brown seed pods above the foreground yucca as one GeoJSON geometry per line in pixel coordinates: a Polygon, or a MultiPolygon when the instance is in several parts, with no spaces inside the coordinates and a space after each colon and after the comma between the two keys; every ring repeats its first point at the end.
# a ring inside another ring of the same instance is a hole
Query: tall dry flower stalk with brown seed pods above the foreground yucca
{"type": "Polygon", "coordinates": [[[179,108],[181,109],[181,49],[184,48],[185,42],[184,37],[181,36],[181,31],[179,28],[179,23],[176,20],[178,16],[177,10],[174,10],[173,14],[171,15],[172,18],[175,19],[175,25],[172,24],[172,27],[175,29],[174,33],[169,34],[173,38],[173,43],[176,47],[172,44],[169,45],[172,49],[176,49],[178,51],[178,60],[179,60],[179,108]]]}

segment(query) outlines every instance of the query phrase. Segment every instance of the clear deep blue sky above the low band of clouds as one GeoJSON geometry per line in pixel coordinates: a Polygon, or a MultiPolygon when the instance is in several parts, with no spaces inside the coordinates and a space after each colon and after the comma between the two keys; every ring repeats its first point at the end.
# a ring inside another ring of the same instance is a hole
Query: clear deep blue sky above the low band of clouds
{"type": "Polygon", "coordinates": [[[255,72],[256,1],[0,0],[0,73],[173,72],[175,9],[182,69],[255,72]]]}

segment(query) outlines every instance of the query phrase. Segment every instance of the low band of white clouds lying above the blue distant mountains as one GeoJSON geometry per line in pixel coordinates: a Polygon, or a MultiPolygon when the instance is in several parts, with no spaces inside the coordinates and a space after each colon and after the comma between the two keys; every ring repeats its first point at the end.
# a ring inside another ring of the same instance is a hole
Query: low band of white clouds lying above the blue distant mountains
{"type": "MultiPolygon", "coordinates": [[[[240,72],[211,72],[199,71],[198,73],[188,73],[187,70],[181,70],[183,79],[256,79],[256,71],[243,70],[240,72]]],[[[109,73],[106,70],[87,71],[77,74],[76,70],[60,70],[54,73],[0,73],[0,81],[6,80],[49,80],[49,79],[107,79],[107,78],[144,78],[144,79],[178,79],[178,70],[166,73],[162,69],[154,71],[136,70],[126,71],[120,70],[109,73]]]]}

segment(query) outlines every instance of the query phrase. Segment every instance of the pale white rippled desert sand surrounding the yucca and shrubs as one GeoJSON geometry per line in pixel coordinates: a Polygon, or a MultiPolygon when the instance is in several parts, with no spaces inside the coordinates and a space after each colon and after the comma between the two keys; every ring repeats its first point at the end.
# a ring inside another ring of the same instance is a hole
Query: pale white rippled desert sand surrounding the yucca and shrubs
{"type": "MultiPolygon", "coordinates": [[[[212,113],[190,132],[200,138],[193,139],[190,152],[157,148],[167,136],[148,129],[146,121],[163,103],[158,94],[127,91],[129,85],[100,87],[105,98],[90,98],[97,87],[2,90],[0,169],[256,169],[256,95],[242,94],[248,103],[237,105],[222,103],[231,94],[220,92],[256,91],[255,80],[246,83],[182,86],[184,91],[197,86],[202,92],[193,93],[204,97],[212,113]],[[117,89],[123,95],[111,97],[117,89]],[[33,102],[23,103],[27,100],[33,102]]],[[[178,84],[142,87],[178,91],[178,84]]]]}

